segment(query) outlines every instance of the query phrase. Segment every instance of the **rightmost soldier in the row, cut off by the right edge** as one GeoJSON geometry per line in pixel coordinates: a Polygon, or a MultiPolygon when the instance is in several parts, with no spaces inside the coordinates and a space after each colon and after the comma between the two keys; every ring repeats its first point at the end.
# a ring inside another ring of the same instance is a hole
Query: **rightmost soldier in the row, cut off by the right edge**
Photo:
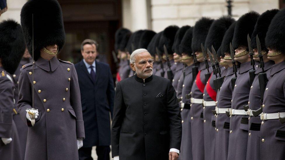
{"type": "Polygon", "coordinates": [[[280,36],[285,30],[284,14],[282,9],[274,16],[265,37],[267,58],[275,64],[270,70],[260,116],[261,159],[285,159],[285,46],[284,36],[280,36]]]}

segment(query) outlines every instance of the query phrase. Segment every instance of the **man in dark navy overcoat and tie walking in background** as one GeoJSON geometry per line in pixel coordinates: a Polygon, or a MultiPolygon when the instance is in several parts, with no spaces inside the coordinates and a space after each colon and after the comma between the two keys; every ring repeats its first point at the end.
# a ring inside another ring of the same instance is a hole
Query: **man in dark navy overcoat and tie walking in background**
{"type": "Polygon", "coordinates": [[[110,159],[110,113],[113,116],[114,81],[110,66],[96,61],[97,43],[86,39],[81,43],[82,61],[75,64],[81,94],[81,106],[85,128],[83,147],[79,159],[91,159],[96,146],[98,159],[110,159]]]}

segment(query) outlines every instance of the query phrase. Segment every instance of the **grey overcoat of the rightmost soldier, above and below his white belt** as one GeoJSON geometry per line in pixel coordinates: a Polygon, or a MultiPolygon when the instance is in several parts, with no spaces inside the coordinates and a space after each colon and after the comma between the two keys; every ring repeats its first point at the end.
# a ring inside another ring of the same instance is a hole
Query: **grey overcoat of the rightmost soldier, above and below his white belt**
{"type": "MultiPolygon", "coordinates": [[[[274,64],[270,70],[263,113],[285,112],[285,61],[274,64]]],[[[260,126],[261,159],[285,159],[285,124],[279,119],[263,120],[260,126]]]]}

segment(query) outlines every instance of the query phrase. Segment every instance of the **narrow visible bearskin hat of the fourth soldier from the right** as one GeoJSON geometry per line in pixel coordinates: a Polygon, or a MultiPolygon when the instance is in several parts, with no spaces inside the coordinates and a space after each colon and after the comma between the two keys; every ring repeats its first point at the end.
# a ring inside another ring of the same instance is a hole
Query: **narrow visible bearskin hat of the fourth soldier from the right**
{"type": "Polygon", "coordinates": [[[230,53],[230,43],[232,43],[232,38],[234,37],[234,28],[237,22],[233,22],[230,28],[226,31],[222,44],[217,52],[218,56],[225,57],[225,53],[230,53]]]}

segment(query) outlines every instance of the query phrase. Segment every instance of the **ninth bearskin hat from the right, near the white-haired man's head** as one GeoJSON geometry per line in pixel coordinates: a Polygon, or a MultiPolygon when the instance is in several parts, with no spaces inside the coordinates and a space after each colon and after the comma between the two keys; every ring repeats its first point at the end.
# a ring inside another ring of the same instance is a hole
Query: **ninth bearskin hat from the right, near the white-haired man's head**
{"type": "Polygon", "coordinates": [[[174,43],[174,37],[176,32],[178,31],[179,27],[173,25],[166,27],[161,34],[159,40],[158,49],[160,52],[164,53],[163,45],[166,46],[168,54],[173,54],[172,45],[174,43]]]}

